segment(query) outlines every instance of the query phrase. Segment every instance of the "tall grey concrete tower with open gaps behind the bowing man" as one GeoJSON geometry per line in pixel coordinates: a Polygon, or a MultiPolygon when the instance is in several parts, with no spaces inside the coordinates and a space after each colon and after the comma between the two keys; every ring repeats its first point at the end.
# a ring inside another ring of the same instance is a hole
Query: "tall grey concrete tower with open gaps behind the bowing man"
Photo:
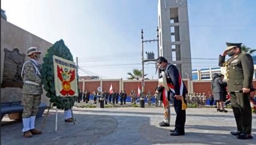
{"type": "Polygon", "coordinates": [[[159,0],[159,56],[177,66],[182,78],[192,78],[187,0],[159,0]]]}

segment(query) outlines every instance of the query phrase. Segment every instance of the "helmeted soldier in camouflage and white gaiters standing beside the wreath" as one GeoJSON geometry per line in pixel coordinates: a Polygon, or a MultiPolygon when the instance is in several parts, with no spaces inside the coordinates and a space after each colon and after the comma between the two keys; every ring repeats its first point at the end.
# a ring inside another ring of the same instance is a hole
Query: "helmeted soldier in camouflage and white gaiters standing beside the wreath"
{"type": "Polygon", "coordinates": [[[26,138],[32,137],[33,134],[42,134],[42,131],[35,129],[35,116],[37,115],[43,92],[41,65],[38,64],[40,54],[41,51],[37,47],[27,49],[27,56],[31,59],[23,64],[21,72],[24,82],[22,88],[22,132],[24,132],[26,138]]]}

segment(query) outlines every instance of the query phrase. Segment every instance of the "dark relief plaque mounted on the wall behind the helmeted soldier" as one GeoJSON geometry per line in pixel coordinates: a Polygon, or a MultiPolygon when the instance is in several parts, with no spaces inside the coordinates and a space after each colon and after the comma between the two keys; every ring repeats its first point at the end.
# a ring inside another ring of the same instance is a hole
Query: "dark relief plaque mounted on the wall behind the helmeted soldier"
{"type": "Polygon", "coordinates": [[[20,87],[23,86],[21,78],[22,65],[25,62],[25,54],[20,54],[18,49],[13,51],[4,49],[5,60],[3,64],[3,81],[1,87],[20,87]]]}

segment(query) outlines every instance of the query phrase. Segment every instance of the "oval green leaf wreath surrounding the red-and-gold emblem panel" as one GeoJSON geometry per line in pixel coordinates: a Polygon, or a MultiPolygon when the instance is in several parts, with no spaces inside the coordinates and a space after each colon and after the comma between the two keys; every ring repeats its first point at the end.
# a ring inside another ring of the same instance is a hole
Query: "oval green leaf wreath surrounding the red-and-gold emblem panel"
{"type": "Polygon", "coordinates": [[[73,55],[61,39],[60,41],[55,42],[54,45],[47,50],[42,64],[42,83],[43,88],[47,91],[46,96],[50,98],[50,102],[53,103],[53,106],[57,106],[59,109],[69,110],[74,106],[75,97],[77,96],[63,97],[55,95],[53,55],[69,61],[73,61],[73,55]]]}

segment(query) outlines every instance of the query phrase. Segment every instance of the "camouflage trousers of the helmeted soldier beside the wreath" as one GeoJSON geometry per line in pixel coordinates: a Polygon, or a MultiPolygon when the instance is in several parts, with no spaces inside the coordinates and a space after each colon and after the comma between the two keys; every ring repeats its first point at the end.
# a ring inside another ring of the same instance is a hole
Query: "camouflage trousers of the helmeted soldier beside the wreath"
{"type": "Polygon", "coordinates": [[[40,103],[41,95],[22,94],[22,118],[30,118],[30,116],[36,116],[40,103]]]}

